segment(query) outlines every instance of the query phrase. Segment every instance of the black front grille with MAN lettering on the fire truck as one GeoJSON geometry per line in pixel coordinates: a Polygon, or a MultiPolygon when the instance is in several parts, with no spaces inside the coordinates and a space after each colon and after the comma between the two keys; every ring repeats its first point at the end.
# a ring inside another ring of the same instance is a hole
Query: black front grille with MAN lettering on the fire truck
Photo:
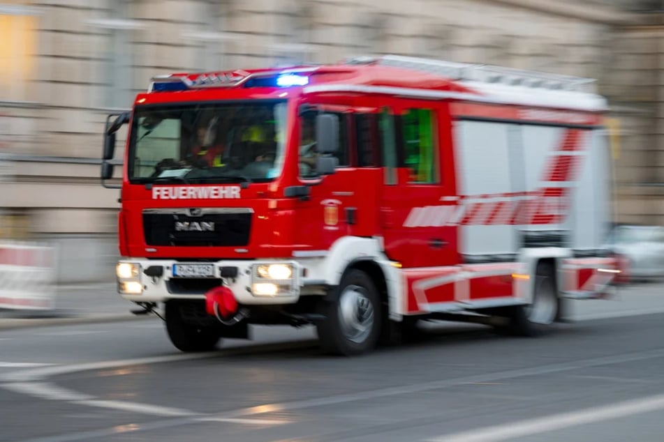
{"type": "Polygon", "coordinates": [[[175,246],[247,245],[252,215],[251,209],[147,209],[143,212],[145,243],[175,246]]]}

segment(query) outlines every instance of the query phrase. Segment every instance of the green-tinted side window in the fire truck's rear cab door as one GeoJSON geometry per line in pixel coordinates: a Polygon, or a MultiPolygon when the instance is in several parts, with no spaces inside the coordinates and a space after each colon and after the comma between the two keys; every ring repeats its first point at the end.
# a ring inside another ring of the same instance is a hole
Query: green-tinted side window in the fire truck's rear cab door
{"type": "Polygon", "coordinates": [[[436,127],[431,109],[407,109],[403,123],[404,162],[410,170],[408,183],[437,183],[436,127]]]}

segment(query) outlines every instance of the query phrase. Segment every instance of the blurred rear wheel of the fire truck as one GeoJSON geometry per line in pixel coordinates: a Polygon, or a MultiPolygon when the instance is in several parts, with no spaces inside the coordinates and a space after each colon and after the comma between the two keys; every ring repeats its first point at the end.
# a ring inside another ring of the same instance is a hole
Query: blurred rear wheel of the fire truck
{"type": "Polygon", "coordinates": [[[561,299],[558,296],[555,275],[550,264],[538,264],[533,302],[510,309],[509,328],[512,334],[534,337],[553,330],[554,323],[561,314],[561,299]]]}

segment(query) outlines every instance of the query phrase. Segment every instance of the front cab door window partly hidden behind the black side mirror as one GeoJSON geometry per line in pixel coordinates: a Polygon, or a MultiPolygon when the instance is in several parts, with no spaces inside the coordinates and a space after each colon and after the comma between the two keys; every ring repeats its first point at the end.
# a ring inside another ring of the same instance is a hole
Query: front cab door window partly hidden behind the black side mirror
{"type": "MultiPolygon", "coordinates": [[[[339,167],[350,165],[350,155],[348,155],[348,114],[341,112],[325,112],[332,114],[339,119],[339,149],[333,154],[339,160],[339,167]]],[[[316,149],[316,112],[306,112],[300,119],[300,176],[302,178],[315,178],[318,176],[316,171],[316,158],[318,150],[316,149]]]]}

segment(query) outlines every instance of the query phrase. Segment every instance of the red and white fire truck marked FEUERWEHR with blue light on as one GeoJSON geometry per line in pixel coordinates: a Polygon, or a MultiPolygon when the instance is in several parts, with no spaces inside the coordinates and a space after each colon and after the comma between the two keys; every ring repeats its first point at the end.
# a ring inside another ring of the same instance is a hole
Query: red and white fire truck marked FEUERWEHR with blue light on
{"type": "Polygon", "coordinates": [[[119,294],[180,351],[257,324],[315,326],[342,355],[421,321],[552,330],[621,272],[594,88],[393,55],[154,77],[105,127],[119,294]]]}

